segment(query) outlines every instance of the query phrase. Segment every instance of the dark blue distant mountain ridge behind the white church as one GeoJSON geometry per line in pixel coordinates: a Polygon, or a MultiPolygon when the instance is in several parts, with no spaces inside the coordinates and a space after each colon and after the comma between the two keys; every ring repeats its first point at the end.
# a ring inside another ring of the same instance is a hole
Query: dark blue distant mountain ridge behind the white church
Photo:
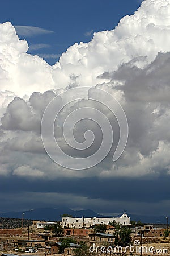
{"type": "MultiPolygon", "coordinates": [[[[45,221],[59,221],[61,220],[62,214],[70,214],[73,217],[81,218],[90,218],[90,217],[113,217],[113,216],[104,216],[94,212],[94,210],[71,210],[66,207],[58,208],[39,208],[33,210],[23,210],[22,212],[6,212],[0,213],[0,217],[4,218],[22,218],[22,213],[24,212],[24,218],[29,220],[45,220],[45,221]]],[[[121,216],[120,213],[119,216],[121,216]]],[[[140,220],[143,223],[155,223],[161,224],[166,223],[166,216],[142,216],[137,214],[128,214],[130,220],[138,221],[140,220]]],[[[115,216],[114,216],[115,217],[115,216]]]]}

